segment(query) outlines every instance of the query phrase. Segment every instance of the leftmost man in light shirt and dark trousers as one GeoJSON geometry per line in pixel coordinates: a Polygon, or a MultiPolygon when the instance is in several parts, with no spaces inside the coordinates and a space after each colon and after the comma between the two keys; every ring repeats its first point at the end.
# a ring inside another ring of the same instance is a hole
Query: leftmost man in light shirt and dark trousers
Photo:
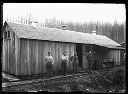
{"type": "Polygon", "coordinates": [[[51,56],[51,52],[48,52],[48,56],[46,56],[45,62],[46,62],[47,76],[52,76],[52,75],[53,75],[54,59],[53,59],[53,57],[51,56]]]}

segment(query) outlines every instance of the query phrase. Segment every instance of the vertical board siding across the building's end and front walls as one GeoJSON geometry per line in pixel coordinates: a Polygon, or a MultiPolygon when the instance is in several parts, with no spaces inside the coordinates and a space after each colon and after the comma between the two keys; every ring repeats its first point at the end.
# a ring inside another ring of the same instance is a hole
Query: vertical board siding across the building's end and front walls
{"type": "MultiPolygon", "coordinates": [[[[50,42],[41,40],[18,39],[4,40],[3,70],[16,75],[32,75],[46,73],[45,57],[52,52],[54,70],[61,69],[61,56],[67,52],[68,57],[74,55],[76,44],[50,42]]],[[[83,45],[85,54],[85,45],[83,45]]],[[[101,55],[101,54],[97,54],[101,55]]],[[[104,56],[105,57],[105,56],[104,56]]],[[[115,65],[120,64],[120,50],[111,50],[109,58],[114,58],[115,65]]],[[[87,68],[87,60],[83,59],[83,69],[87,68]]],[[[68,69],[72,70],[72,62],[68,62],[68,69]]]]}

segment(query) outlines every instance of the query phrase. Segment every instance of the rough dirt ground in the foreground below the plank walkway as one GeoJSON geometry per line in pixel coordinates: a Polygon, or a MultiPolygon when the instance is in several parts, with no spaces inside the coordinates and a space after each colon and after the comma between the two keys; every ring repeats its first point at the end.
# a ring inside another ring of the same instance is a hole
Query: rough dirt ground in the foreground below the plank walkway
{"type": "Polygon", "coordinates": [[[4,87],[3,92],[86,92],[86,93],[124,93],[125,68],[119,67],[87,74],[62,77],[30,84],[4,87]]]}

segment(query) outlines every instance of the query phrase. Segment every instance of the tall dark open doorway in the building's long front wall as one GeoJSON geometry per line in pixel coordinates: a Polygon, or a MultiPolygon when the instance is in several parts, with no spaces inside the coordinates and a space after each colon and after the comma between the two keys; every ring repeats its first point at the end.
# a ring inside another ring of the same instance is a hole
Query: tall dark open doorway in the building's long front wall
{"type": "Polygon", "coordinates": [[[82,58],[83,58],[83,55],[82,55],[82,44],[78,43],[76,44],[76,52],[77,52],[77,56],[78,56],[78,59],[79,59],[79,64],[78,66],[80,68],[82,68],[82,58]]]}

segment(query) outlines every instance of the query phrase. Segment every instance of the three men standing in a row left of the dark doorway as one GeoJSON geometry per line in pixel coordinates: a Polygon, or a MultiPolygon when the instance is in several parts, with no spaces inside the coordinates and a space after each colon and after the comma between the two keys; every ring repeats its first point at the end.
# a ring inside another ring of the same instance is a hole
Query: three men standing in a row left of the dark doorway
{"type": "MultiPolygon", "coordinates": [[[[69,59],[72,61],[73,65],[73,73],[77,73],[78,70],[78,56],[77,53],[74,53],[74,56],[71,56],[70,58],[67,56],[67,53],[64,52],[63,55],[61,56],[61,72],[63,75],[66,75],[67,73],[67,64],[69,62],[69,59]]],[[[51,55],[51,52],[48,52],[48,56],[45,58],[46,62],[46,71],[48,76],[53,75],[53,65],[54,65],[54,58],[51,55]]]]}

